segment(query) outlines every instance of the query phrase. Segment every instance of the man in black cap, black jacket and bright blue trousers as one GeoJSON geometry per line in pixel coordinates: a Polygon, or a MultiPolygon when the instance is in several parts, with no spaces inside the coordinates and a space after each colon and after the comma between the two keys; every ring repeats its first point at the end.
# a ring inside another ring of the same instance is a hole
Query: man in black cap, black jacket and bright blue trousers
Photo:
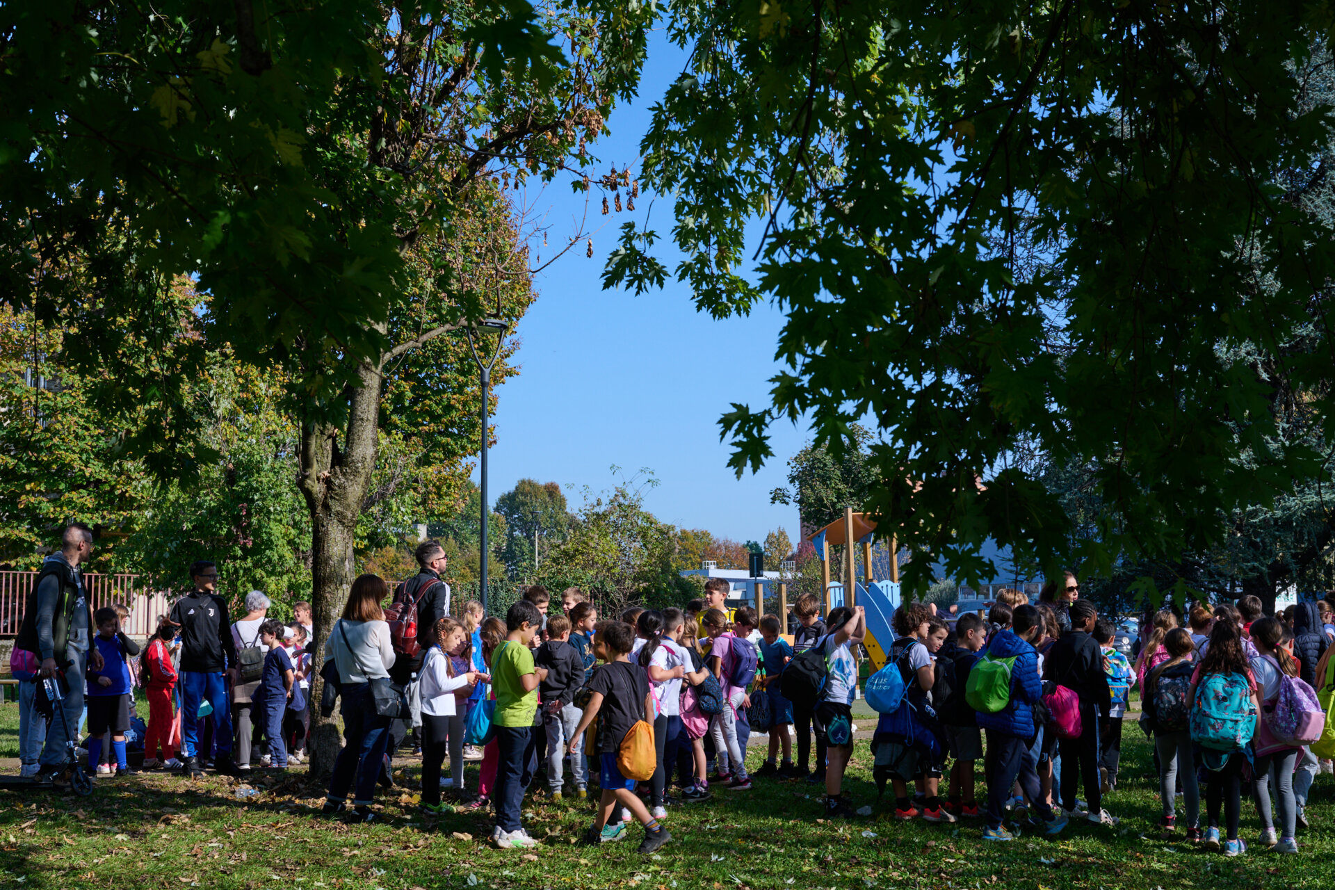
{"type": "Polygon", "coordinates": [[[190,567],[194,588],[176,600],[167,620],[180,628],[180,753],[190,775],[200,775],[199,707],[206,701],[214,709],[214,741],[219,774],[232,766],[232,705],[228,679],[236,678],[236,643],[227,600],[218,595],[218,566],[207,559],[190,567]]]}

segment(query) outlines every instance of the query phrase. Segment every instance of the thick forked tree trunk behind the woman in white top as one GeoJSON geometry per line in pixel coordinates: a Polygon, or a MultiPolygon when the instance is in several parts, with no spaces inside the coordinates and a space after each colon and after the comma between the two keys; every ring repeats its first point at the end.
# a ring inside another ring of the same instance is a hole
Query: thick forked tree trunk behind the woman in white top
{"type": "Polygon", "coordinates": [[[352,586],[352,544],[362,503],[375,470],[376,428],[380,416],[380,363],[358,368],[358,386],[348,396],[347,428],[327,423],[302,424],[302,475],[298,486],[311,514],[311,620],[315,626],[315,673],[311,678],[310,771],[326,777],[334,770],[340,738],[338,714],[320,715],[324,643],[347,603],[352,586]]]}

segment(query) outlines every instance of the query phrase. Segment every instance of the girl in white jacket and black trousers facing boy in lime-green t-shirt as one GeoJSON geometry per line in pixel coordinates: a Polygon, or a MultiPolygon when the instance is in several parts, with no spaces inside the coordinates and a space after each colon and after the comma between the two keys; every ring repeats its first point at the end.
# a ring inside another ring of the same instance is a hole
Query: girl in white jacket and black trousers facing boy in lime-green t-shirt
{"type": "Polygon", "coordinates": [[[441,803],[441,765],[445,763],[446,745],[450,749],[450,773],[455,791],[463,791],[463,714],[459,699],[467,699],[478,682],[490,677],[478,671],[457,673],[467,664],[463,648],[467,634],[463,624],[453,618],[438,618],[434,628],[435,644],[422,659],[418,677],[422,693],[422,809],[437,815],[453,809],[441,803]],[[451,658],[454,656],[454,658],[451,658]]]}

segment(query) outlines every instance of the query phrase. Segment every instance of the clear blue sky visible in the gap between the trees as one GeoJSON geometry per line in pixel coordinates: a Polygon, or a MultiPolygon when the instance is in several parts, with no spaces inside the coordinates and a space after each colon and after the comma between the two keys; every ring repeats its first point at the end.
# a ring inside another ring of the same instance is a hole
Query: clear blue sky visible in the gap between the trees
{"type": "MultiPolygon", "coordinates": [[[[682,63],[684,55],[661,35],[651,41],[639,97],[613,112],[611,135],[594,147],[597,172],[613,164],[638,168],[649,108],[682,63]]],[[[570,179],[558,176],[525,199],[530,215],[546,216],[551,244],[578,231],[585,213],[583,197],[571,197],[570,179]]],[[[649,197],[637,200],[639,223],[649,197]]],[[[497,444],[489,458],[493,503],[529,476],[559,483],[577,506],[582,487],[598,492],[615,483],[613,464],[627,476],[647,468],[661,484],[647,491],[646,506],[659,519],[736,540],[762,540],[781,527],[796,543],[796,507],[772,506],[769,492],[786,484],[786,462],[806,442],[805,427],[776,426],[776,456],[740,480],[728,468],[728,443],[718,439],[718,418],[730,403],[768,404],[782,315],[766,304],[748,318],[716,322],[696,311],[689,287],[673,280],[638,298],[603,291],[599,276],[627,219],[625,212],[602,216],[591,203],[586,228],[593,230],[593,259],[581,246],[534,283],[538,300],[517,330],[521,374],[498,390],[497,444]]],[[[668,239],[672,221],[670,201],[658,200],[650,226],[668,239]]],[[[676,266],[670,252],[662,256],[669,268],[676,266]]]]}

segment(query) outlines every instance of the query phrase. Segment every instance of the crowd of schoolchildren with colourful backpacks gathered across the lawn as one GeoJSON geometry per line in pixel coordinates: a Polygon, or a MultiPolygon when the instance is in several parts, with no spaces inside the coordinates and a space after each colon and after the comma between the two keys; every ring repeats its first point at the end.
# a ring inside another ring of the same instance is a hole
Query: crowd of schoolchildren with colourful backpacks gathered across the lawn
{"type": "MultiPolygon", "coordinates": [[[[1005,591],[987,618],[964,614],[953,623],[921,603],[896,610],[896,639],[880,640],[885,666],[866,681],[868,702],[880,711],[873,778],[882,793],[890,786],[893,817],[980,819],[987,841],[1053,835],[1076,818],[1117,825],[1104,801],[1117,787],[1123,721],[1137,691],[1139,729],[1153,739],[1161,833],[1181,827],[1206,849],[1244,853],[1239,822],[1250,787],[1259,843],[1296,853],[1323,766],[1312,749],[1320,741],[1330,745],[1318,751],[1335,750],[1314,690],[1335,686],[1335,610],[1302,603],[1264,616],[1250,596],[1212,610],[1197,604],[1184,618],[1161,608],[1145,616],[1132,663],[1115,646],[1112,623],[1079,598],[1075,576],[1057,584],[1057,598],[1031,604],[1005,591]],[[975,787],[980,761],[985,798],[975,787]]],[[[549,615],[550,596],[534,587],[505,620],[483,616],[477,603],[466,604],[462,620],[437,619],[422,632],[417,678],[422,809],[491,806],[494,843],[529,847],[537,841],[523,829],[521,805],[530,786],[555,801],[569,781],[582,801],[597,782],[585,839],[619,841],[635,819],[646,853],[672,841],[673,803],[706,801],[718,789],[745,793],[757,779],[824,785],[824,814],[854,817],[842,786],[854,750],[864,610],[838,606],[822,622],[816,598],[802,596],[789,643],[777,616],[750,607],[729,616],[726,595],[728,582],[712,579],[706,598],[685,610],[631,607],[599,620],[574,588],[562,596],[563,614],[549,615]],[[768,733],[768,750],[749,774],[753,731],[768,733]],[[481,759],[477,793],[465,786],[469,749],[481,759]]],[[[124,615],[101,608],[93,618],[101,659],[87,678],[89,770],[103,773],[103,762],[107,771],[129,770],[136,682],[150,706],[144,769],[178,767],[176,624],[159,623],[132,674],[140,652],[120,632],[124,615]]],[[[308,611],[291,626],[258,624],[266,655],[252,706],[276,769],[299,762],[308,727],[302,618],[308,611]]],[[[332,795],[331,805],[342,811],[332,795]]]]}

